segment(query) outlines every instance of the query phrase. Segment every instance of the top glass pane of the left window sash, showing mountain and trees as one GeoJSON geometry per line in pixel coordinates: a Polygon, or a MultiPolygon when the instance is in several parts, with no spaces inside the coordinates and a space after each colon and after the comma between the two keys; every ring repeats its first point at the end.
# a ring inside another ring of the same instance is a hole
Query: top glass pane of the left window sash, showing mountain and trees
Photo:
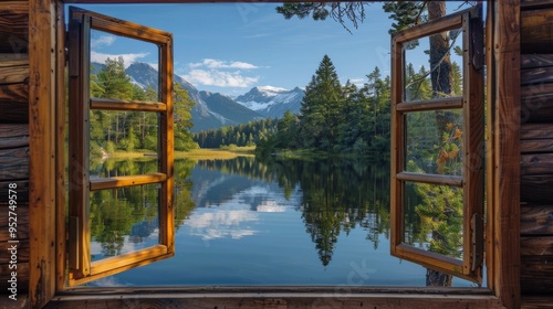
{"type": "Polygon", "coordinates": [[[157,45],[91,31],[91,97],[157,102],[158,66],[157,45]]]}

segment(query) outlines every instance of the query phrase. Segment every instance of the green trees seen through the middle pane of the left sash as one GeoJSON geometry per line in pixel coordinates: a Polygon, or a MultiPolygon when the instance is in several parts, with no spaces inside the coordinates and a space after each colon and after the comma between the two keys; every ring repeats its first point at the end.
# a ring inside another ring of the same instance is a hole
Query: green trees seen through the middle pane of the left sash
{"type": "Polygon", "coordinates": [[[117,153],[158,153],[158,117],[157,113],[147,111],[91,110],[91,169],[95,162],[117,153]]]}

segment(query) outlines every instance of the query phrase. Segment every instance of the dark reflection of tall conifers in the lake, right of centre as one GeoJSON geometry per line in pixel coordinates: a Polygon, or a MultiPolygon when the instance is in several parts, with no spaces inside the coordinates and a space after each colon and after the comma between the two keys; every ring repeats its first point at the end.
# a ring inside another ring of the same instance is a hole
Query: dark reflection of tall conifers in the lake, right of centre
{"type": "Polygon", "coordinates": [[[279,160],[267,162],[284,192],[302,191],[305,230],[327,265],[341,232],[361,226],[378,247],[389,228],[388,162],[366,160],[279,160]]]}

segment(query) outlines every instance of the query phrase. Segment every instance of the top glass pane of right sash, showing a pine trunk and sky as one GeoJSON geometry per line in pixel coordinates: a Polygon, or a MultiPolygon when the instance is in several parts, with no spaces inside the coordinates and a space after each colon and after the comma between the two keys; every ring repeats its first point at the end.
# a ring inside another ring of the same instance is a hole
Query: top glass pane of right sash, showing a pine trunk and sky
{"type": "Polygon", "coordinates": [[[460,29],[409,41],[404,47],[404,102],[462,96],[460,29]]]}

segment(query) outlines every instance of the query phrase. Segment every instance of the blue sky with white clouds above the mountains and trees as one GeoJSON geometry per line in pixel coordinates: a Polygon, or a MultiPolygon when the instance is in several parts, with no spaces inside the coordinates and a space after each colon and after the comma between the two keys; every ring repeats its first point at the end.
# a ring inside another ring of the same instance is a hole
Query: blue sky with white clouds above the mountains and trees
{"type": "MultiPolygon", "coordinates": [[[[174,34],[175,72],[200,90],[237,96],[253,86],[305,87],[324,54],[342,81],[363,84],[375,66],[389,74],[388,29],[382,3],[366,8],[352,33],[332,19],[285,20],[279,3],[102,4],[77,7],[174,34]]],[[[456,4],[453,4],[457,7],[456,4]]],[[[92,58],[124,55],[156,65],[153,45],[95,32],[92,58]]]]}

